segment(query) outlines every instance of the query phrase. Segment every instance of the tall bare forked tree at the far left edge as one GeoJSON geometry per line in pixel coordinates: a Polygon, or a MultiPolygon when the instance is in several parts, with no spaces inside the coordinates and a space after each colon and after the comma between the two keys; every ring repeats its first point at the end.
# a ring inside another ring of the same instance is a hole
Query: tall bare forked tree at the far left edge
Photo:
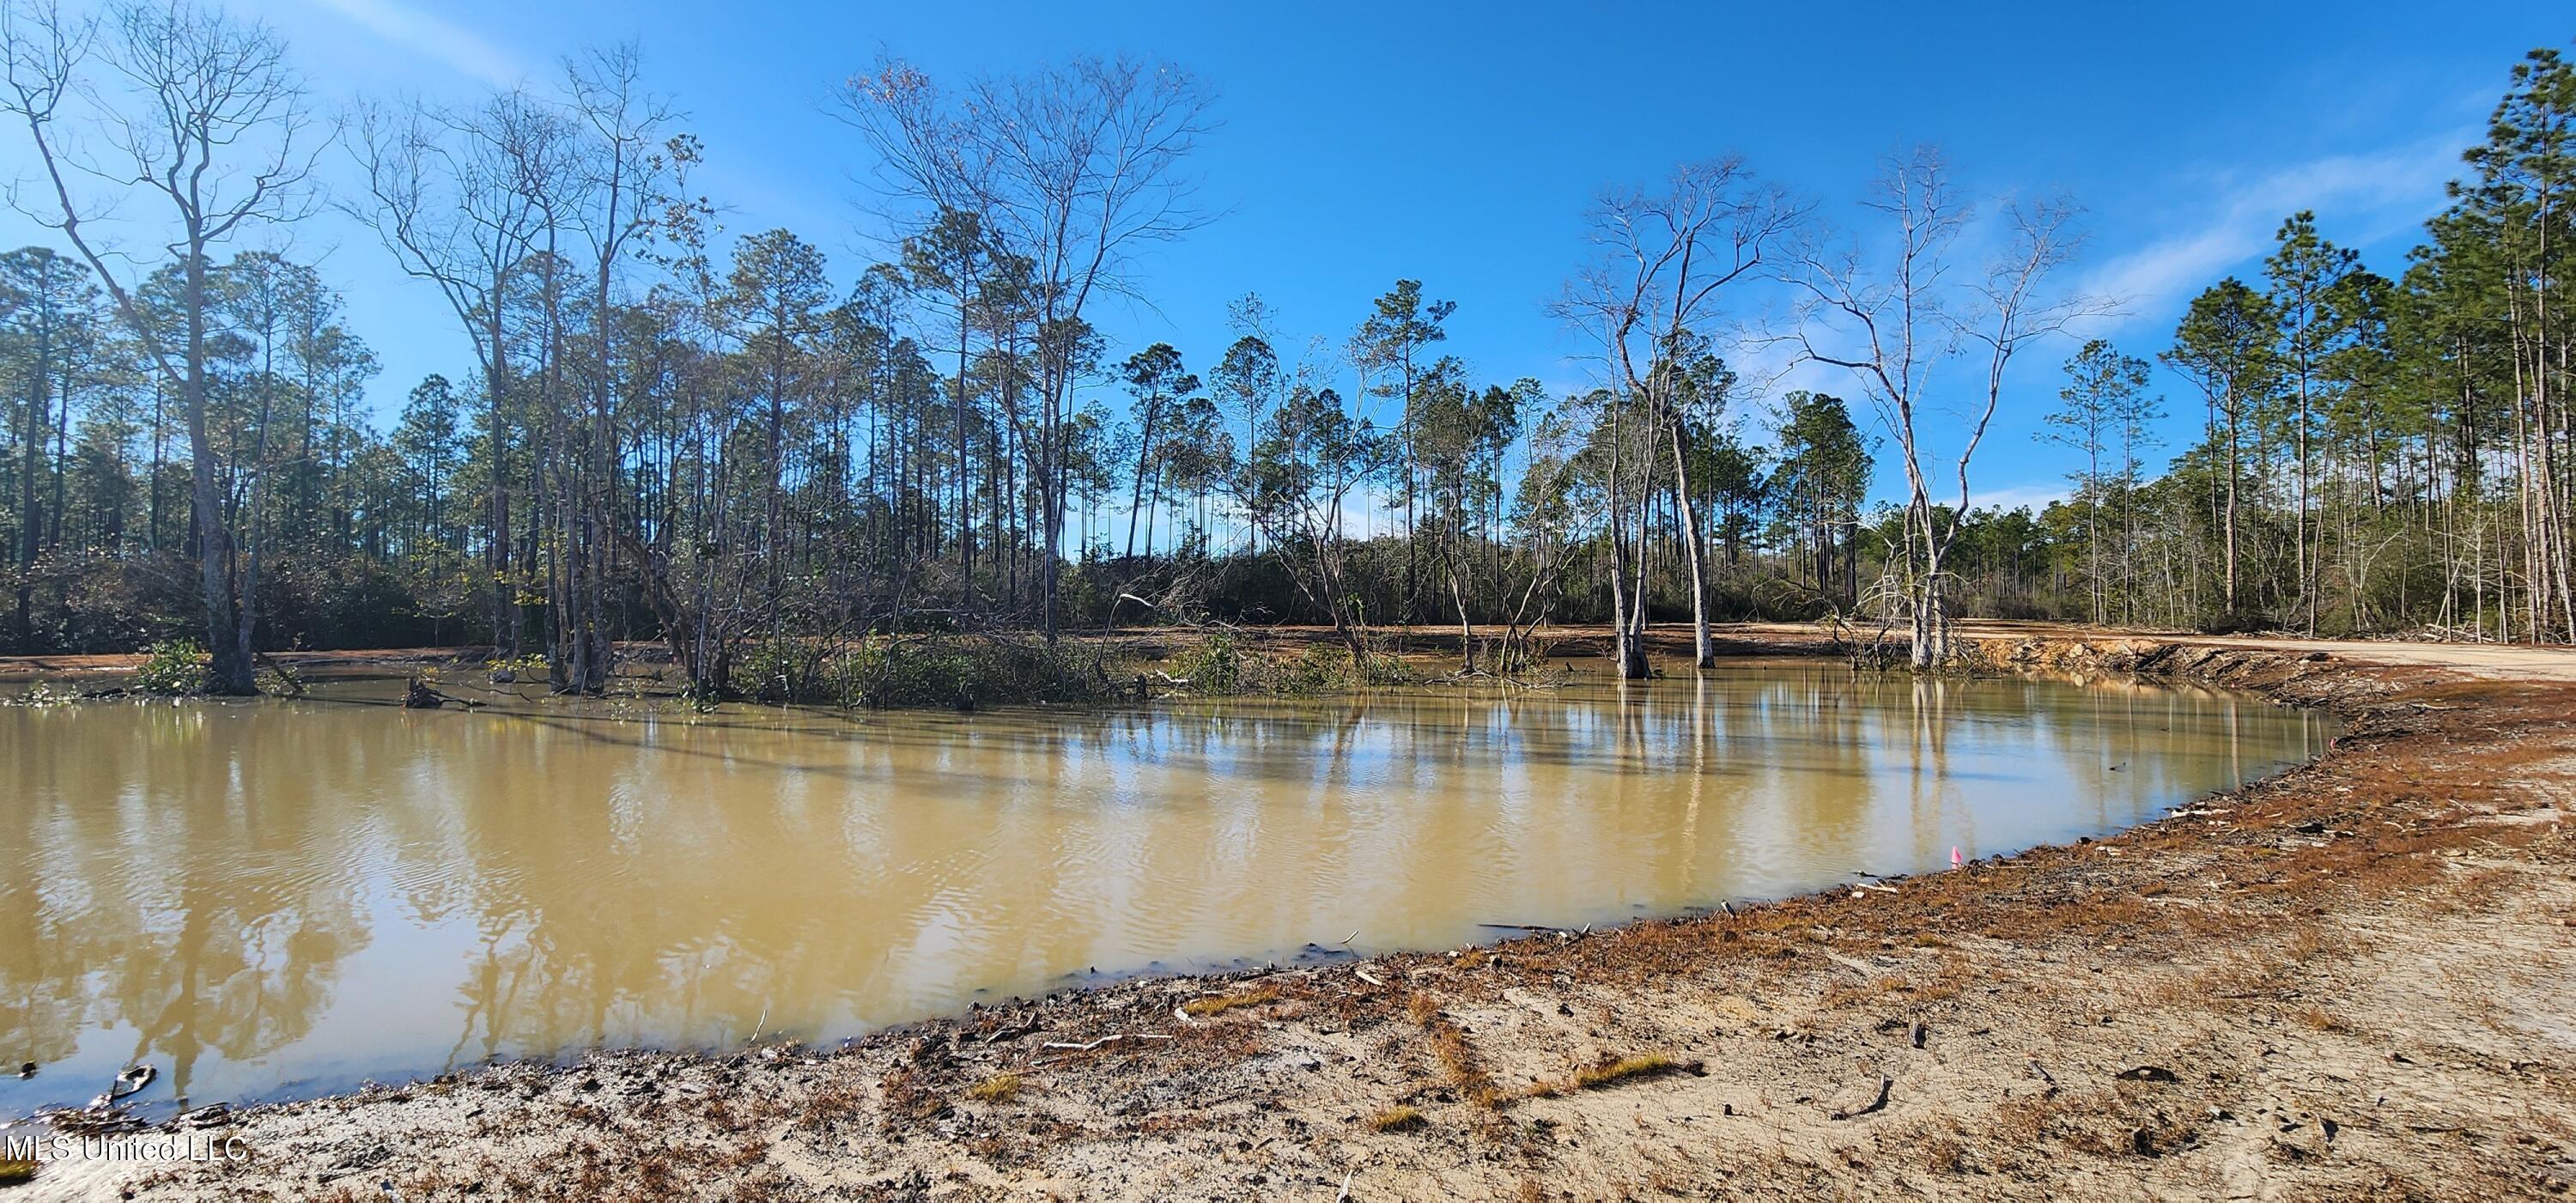
{"type": "Polygon", "coordinates": [[[255,693],[255,582],[232,574],[232,531],[224,526],[216,477],[222,464],[206,435],[206,252],[245,227],[301,216],[312,152],[304,82],[286,67],[286,46],[265,26],[237,26],[188,5],[121,5],[106,18],[67,21],[54,5],[0,8],[0,57],[8,95],[26,121],[52,188],[46,219],[80,250],[116,301],[155,371],[188,410],[191,507],[198,528],[198,592],[206,605],[209,685],[255,693]],[[80,80],[85,54],[100,57],[126,82],[131,111],[80,80]],[[80,229],[82,206],[64,173],[57,121],[67,100],[95,103],[93,131],[124,167],[90,167],[124,188],[170,204],[170,247],[180,255],[183,343],[173,358],[152,314],[108,268],[80,229]],[[229,160],[219,157],[229,155],[229,160]]]}

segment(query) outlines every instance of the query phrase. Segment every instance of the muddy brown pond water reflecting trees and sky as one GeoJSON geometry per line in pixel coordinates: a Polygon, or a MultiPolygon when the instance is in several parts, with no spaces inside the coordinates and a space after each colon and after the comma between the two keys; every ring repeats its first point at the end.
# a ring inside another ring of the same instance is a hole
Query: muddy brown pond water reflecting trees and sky
{"type": "Polygon", "coordinates": [[[2099,835],[2318,755],[2213,690],[1816,659],[1110,711],[0,708],[0,1113],[801,1038],[2099,835]]]}

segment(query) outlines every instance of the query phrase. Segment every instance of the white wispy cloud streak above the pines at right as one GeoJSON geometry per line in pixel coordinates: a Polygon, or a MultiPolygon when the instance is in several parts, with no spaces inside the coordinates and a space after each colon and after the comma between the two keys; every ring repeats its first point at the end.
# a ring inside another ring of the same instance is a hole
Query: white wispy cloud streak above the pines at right
{"type": "Polygon", "coordinates": [[[2460,173],[2460,147],[2473,129],[2439,134],[2375,155],[2331,155],[2264,173],[2218,173],[2177,180],[2190,229],[2174,232],[2094,268],[2081,289],[2120,301],[2123,317],[2166,314],[2226,270],[2259,258],[2280,222],[2313,209],[2339,240],[2375,240],[2406,229],[2442,204],[2442,183],[2460,173]],[[2192,196],[2200,196],[2192,201],[2192,196]]]}

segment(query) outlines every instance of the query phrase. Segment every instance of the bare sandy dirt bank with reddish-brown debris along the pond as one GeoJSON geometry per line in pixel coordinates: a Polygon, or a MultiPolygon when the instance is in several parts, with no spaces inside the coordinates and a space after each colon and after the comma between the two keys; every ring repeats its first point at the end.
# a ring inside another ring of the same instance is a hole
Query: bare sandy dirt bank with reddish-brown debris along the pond
{"type": "Polygon", "coordinates": [[[242,1136],[247,1164],[49,1172],[36,1190],[2465,1198],[2576,1182],[2576,657],[1976,634],[1999,662],[2249,688],[2347,732],[2321,763],[2125,835],[1950,873],[1133,981],[837,1051],[500,1066],[234,1115],[216,1133],[242,1136]]]}

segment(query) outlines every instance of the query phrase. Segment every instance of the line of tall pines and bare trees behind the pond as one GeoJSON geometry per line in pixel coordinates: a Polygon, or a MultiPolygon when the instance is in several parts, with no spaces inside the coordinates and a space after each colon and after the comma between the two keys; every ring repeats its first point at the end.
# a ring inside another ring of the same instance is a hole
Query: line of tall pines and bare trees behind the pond
{"type": "Polygon", "coordinates": [[[1213,95],[1172,64],[853,75],[896,229],[853,273],[788,229],[719,245],[706,147],[631,46],[335,111],[191,3],[8,0],[5,57],[13,196],[59,234],[0,255],[10,652],[193,639],[250,690],[263,649],[471,641],[598,690],[654,639],[701,693],[775,696],[868,639],[1211,618],[1355,657],[1473,623],[1497,672],[1571,621],[1628,672],[1649,621],[1705,659],[1734,616],[1917,665],[1958,616],[2576,631],[2576,70],[2548,49],[2403,265],[2293,214],[2161,345],[2079,340],[2117,299],[2056,283],[2071,206],[1978,214],[1929,152],[1844,232],[1741,160],[1610,188],[1551,301],[1595,368],[1564,397],[1445,353],[1473,307],[1409,278],[1347,330],[1244,294],[1226,345],[1110,345],[1139,250],[1208,219],[1213,95]],[[332,281],[276,250],[325,209],[471,345],[397,412],[332,281]],[[1767,394],[1749,350],[1847,386],[1767,394]],[[2017,397],[2038,355],[2061,389],[2017,397]],[[2045,410],[2069,500],[1978,505],[1971,459],[2020,451],[2002,407],[2045,410]],[[1891,466],[1904,497],[1868,505],[1891,466]]]}

